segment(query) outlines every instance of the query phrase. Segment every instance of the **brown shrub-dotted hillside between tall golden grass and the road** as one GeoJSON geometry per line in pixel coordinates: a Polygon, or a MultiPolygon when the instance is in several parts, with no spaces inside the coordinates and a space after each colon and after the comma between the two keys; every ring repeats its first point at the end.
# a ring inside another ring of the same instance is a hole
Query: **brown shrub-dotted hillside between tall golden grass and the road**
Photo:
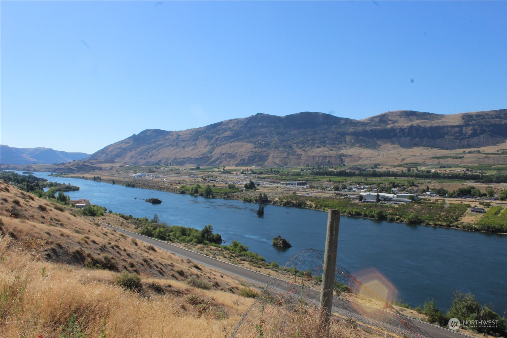
{"type": "MultiPolygon", "coordinates": [[[[219,273],[84,219],[77,209],[53,204],[4,182],[0,187],[2,234],[11,236],[33,257],[77,267],[101,266],[143,278],[185,281],[195,276],[216,290],[234,292],[233,282],[219,273]]],[[[112,216],[104,217],[107,221],[112,216]]]]}

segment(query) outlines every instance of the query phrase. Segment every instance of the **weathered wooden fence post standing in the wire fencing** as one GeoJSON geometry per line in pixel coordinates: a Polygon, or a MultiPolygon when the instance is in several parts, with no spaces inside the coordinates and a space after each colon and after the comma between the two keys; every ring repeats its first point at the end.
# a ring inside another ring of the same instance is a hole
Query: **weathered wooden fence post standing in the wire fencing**
{"type": "Polygon", "coordinates": [[[325,236],[324,267],[322,269],[322,287],[320,290],[321,325],[323,329],[326,329],[329,325],[331,309],[333,307],[339,230],[340,210],[329,209],[328,231],[325,236]]]}

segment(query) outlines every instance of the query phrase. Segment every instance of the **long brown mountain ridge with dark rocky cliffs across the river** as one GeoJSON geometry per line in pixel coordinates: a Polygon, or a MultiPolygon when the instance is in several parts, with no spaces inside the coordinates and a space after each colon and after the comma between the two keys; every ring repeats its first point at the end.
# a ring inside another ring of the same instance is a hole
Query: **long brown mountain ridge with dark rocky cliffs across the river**
{"type": "Polygon", "coordinates": [[[476,148],[507,140],[507,110],[439,115],[387,112],[363,120],[303,112],[256,114],[183,131],[147,129],[87,160],[177,165],[337,165],[350,147],[476,148]]]}

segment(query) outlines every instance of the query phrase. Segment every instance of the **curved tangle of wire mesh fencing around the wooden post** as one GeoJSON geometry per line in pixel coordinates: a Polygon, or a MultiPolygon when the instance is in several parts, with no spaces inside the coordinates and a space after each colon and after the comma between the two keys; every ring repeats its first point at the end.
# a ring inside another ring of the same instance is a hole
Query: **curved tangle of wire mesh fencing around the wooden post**
{"type": "Polygon", "coordinates": [[[354,332],[350,329],[361,327],[384,336],[430,337],[338,264],[331,323],[336,327],[330,331],[316,323],[315,318],[320,316],[323,257],[322,251],[305,249],[289,258],[243,315],[231,338],[282,337],[292,333],[300,337],[342,336],[339,333],[343,334],[344,325],[349,328],[349,335],[354,332]],[[311,322],[311,331],[307,321],[311,322]]]}

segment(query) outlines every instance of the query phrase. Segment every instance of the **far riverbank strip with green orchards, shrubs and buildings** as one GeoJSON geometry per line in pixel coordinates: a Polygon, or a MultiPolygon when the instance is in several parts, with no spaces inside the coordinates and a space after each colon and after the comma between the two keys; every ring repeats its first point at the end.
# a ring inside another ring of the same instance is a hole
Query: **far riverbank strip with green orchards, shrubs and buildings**
{"type": "MultiPolygon", "coordinates": [[[[55,176],[97,180],[97,177],[91,174],[56,174],[55,176]]],[[[341,211],[342,215],[352,217],[456,228],[468,231],[507,233],[507,207],[502,207],[498,216],[493,215],[493,221],[488,220],[488,218],[481,221],[480,217],[482,215],[478,217],[477,213],[469,211],[470,207],[477,206],[476,204],[470,205],[457,200],[428,199],[415,201],[411,204],[393,206],[382,203],[358,202],[346,197],[302,196],[291,189],[267,189],[263,186],[256,190],[239,191],[236,189],[238,191],[234,192],[231,189],[226,189],[227,181],[225,181],[225,183],[221,180],[203,181],[203,179],[197,177],[175,175],[153,179],[146,177],[110,176],[104,173],[104,175],[100,177],[100,181],[178,194],[182,192],[188,193],[190,187],[195,184],[199,184],[202,187],[210,185],[214,198],[236,199],[245,202],[257,202],[284,207],[308,208],[324,212],[327,212],[329,209],[337,209],[341,211]],[[186,190],[182,189],[182,186],[184,186],[186,190]],[[260,194],[262,194],[262,196],[260,196],[260,194]],[[474,222],[462,221],[465,216],[469,216],[466,219],[474,222]],[[503,218],[506,219],[505,223],[501,221],[503,218]]],[[[489,207],[483,206],[486,211],[489,211],[491,207],[491,205],[489,207]]]]}

